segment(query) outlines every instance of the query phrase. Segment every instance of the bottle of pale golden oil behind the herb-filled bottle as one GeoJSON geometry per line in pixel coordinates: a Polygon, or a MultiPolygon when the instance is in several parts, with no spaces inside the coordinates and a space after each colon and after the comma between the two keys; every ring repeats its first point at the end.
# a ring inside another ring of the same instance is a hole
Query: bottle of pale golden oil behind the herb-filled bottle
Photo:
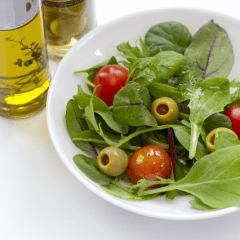
{"type": "Polygon", "coordinates": [[[49,58],[60,60],[96,26],[95,0],[42,0],[49,58]]]}

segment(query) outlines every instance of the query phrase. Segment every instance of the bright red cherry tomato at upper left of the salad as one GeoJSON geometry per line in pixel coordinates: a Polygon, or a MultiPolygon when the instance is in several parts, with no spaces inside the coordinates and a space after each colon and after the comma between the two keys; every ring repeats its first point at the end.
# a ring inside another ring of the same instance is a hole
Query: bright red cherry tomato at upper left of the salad
{"type": "Polygon", "coordinates": [[[113,104],[114,95],[125,86],[128,70],[119,65],[106,65],[98,70],[94,77],[94,85],[101,85],[95,91],[95,96],[102,99],[108,106],[113,104]]]}

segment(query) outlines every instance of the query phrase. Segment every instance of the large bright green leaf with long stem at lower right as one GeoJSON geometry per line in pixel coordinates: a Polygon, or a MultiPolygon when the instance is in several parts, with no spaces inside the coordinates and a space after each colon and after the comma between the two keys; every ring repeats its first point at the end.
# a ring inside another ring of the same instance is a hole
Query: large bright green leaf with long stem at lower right
{"type": "Polygon", "coordinates": [[[148,195],[182,190],[199,198],[212,208],[240,207],[240,146],[215,151],[197,161],[183,179],[159,189],[145,191],[148,195]]]}

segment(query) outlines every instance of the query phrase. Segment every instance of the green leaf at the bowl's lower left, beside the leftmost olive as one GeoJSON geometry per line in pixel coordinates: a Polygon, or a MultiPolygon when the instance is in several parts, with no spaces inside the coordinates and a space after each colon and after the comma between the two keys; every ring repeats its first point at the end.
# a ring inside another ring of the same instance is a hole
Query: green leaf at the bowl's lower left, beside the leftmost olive
{"type": "Polygon", "coordinates": [[[113,181],[112,178],[108,177],[98,169],[97,159],[77,154],[73,157],[73,161],[77,167],[94,182],[99,184],[109,184],[113,181]]]}

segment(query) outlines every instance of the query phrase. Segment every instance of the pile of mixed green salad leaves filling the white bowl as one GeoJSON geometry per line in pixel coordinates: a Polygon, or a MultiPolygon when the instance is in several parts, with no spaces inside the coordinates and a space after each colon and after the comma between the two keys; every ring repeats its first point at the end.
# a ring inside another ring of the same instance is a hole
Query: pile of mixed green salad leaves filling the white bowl
{"type": "Polygon", "coordinates": [[[108,64],[129,70],[128,80],[108,107],[81,85],[69,100],[66,124],[74,144],[89,153],[74,156],[76,165],[106,192],[125,200],[147,200],[167,193],[174,199],[192,195],[193,208],[201,210],[240,207],[240,141],[229,132],[215,136],[216,151],[209,153],[205,140],[213,129],[231,129],[223,113],[240,103],[239,77],[227,79],[234,62],[226,31],[213,21],[192,36],[179,22],[164,22],[149,29],[144,41],[117,46],[112,56],[90,69],[85,80],[93,90],[97,71],[108,64]],[[172,98],[179,107],[179,118],[171,125],[159,125],[150,112],[159,97],[172,98]],[[173,130],[173,143],[168,141],[173,130]],[[122,148],[129,156],[145,145],[158,145],[170,152],[174,148],[175,178],[133,184],[126,172],[113,178],[97,167],[97,150],[108,146],[122,148]],[[128,183],[127,185],[125,183],[128,183]],[[156,183],[158,186],[156,187],[156,183]]]}

